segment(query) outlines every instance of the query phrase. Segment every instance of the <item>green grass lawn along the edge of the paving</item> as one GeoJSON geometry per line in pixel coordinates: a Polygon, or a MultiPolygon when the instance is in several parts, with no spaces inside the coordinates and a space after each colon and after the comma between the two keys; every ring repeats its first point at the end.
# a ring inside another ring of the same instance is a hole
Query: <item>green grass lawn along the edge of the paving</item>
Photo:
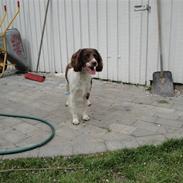
{"type": "Polygon", "coordinates": [[[1,160],[0,182],[181,183],[183,139],[87,156],[1,160]]]}

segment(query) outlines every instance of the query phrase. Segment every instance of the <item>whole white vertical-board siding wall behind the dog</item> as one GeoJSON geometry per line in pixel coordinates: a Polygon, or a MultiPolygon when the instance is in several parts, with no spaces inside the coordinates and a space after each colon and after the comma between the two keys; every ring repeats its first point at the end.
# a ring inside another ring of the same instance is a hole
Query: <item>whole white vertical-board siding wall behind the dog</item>
{"type": "MultiPolygon", "coordinates": [[[[46,0],[22,0],[13,26],[21,32],[27,56],[35,70],[46,0]]],[[[16,0],[7,4],[13,16],[16,0]]],[[[183,83],[183,1],[161,0],[163,58],[174,81],[183,83]]],[[[71,55],[82,47],[94,47],[104,60],[102,79],[145,84],[159,70],[156,0],[51,0],[39,70],[64,72],[71,55]],[[151,11],[134,12],[146,4],[151,11]],[[148,39],[147,39],[148,38],[148,39]]],[[[2,11],[0,11],[2,16],[2,11]]]]}

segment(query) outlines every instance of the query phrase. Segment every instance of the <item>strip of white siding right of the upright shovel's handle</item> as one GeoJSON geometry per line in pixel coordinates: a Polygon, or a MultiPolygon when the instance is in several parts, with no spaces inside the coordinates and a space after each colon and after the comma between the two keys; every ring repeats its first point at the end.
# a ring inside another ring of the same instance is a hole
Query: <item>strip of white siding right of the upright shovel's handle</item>
{"type": "Polygon", "coordinates": [[[163,56],[165,69],[174,81],[183,83],[183,1],[162,1],[163,56]]]}

